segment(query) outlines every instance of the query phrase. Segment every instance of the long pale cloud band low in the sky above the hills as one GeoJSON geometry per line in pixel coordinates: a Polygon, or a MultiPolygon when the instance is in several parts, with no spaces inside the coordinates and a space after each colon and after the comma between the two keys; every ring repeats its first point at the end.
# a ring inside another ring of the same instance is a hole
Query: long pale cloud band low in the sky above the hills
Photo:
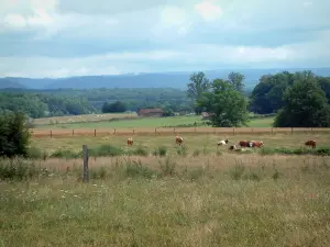
{"type": "MultiPolygon", "coordinates": [[[[323,34],[324,35],[324,34],[323,34]]],[[[328,35],[328,34],[327,34],[328,35]]],[[[328,43],[311,42],[274,48],[255,46],[186,45],[177,49],[109,53],[84,58],[0,57],[0,77],[68,77],[216,69],[221,67],[329,66],[328,43]],[[142,63],[141,63],[142,61],[142,63]],[[187,67],[188,66],[188,67],[187,67]]]]}

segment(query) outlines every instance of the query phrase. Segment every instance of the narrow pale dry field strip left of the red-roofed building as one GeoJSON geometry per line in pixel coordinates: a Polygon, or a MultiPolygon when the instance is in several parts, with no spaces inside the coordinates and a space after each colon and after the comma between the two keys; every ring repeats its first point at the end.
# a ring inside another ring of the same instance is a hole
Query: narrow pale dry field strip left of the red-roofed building
{"type": "Polygon", "coordinates": [[[34,123],[36,125],[47,125],[47,124],[100,122],[107,120],[122,120],[122,119],[134,119],[134,117],[138,117],[136,113],[85,114],[85,115],[35,119],[34,123]]]}

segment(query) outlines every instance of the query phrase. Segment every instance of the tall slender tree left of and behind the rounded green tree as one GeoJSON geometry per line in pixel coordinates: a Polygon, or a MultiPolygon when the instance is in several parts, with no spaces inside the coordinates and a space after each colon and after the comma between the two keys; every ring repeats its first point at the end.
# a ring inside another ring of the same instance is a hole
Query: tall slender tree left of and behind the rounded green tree
{"type": "Polygon", "coordinates": [[[210,81],[207,79],[204,72],[193,74],[190,76],[190,83],[188,83],[187,96],[194,102],[194,108],[196,114],[201,113],[201,108],[198,106],[197,101],[199,101],[202,97],[202,93],[207,92],[210,88],[210,81]]]}

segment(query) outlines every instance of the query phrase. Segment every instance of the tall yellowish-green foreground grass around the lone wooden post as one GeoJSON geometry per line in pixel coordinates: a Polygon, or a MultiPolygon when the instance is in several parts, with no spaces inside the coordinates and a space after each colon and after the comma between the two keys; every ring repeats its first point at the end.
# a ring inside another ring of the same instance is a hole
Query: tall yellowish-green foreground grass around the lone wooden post
{"type": "Polygon", "coordinates": [[[88,184],[80,164],[0,183],[2,246],[330,245],[326,157],[98,158],[88,184]]]}

